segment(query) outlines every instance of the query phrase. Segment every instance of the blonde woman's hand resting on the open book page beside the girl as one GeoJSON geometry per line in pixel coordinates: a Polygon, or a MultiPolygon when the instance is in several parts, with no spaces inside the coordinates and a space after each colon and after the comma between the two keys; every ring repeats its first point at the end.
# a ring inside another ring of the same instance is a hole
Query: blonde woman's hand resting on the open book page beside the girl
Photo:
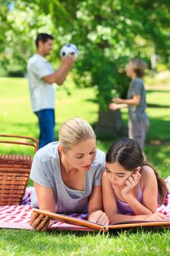
{"type": "Polygon", "coordinates": [[[107,217],[107,214],[105,214],[103,211],[98,210],[98,211],[93,211],[92,213],[89,214],[88,216],[89,222],[96,222],[100,225],[107,226],[109,225],[109,219],[107,217]]]}

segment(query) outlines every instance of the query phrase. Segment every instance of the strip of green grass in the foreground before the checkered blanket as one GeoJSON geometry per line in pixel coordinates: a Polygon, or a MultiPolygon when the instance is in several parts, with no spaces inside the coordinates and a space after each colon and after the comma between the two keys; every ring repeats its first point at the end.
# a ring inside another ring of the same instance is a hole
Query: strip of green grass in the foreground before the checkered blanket
{"type": "Polygon", "coordinates": [[[37,233],[0,230],[0,255],[169,255],[169,230],[37,233]]]}

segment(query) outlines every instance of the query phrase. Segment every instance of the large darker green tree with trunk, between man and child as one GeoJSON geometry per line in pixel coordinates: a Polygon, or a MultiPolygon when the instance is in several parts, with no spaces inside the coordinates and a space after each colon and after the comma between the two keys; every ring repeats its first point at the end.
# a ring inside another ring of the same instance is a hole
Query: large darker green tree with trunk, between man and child
{"type": "MultiPolygon", "coordinates": [[[[22,2],[31,12],[32,1],[22,2]]],[[[125,97],[128,60],[139,57],[150,65],[154,43],[156,54],[162,61],[169,61],[169,1],[34,0],[35,5],[37,17],[50,15],[56,52],[66,42],[73,42],[80,49],[74,79],[77,86],[96,89],[97,131],[123,135],[120,112],[108,110],[108,104],[116,93],[125,97]]],[[[20,10],[20,5],[17,8],[20,10]]]]}

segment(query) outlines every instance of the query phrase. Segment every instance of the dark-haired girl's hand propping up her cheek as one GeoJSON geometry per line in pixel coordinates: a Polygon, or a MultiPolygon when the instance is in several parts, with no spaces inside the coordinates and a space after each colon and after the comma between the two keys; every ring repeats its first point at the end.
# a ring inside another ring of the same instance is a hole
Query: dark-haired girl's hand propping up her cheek
{"type": "Polygon", "coordinates": [[[140,178],[140,173],[136,172],[125,181],[125,187],[122,189],[122,195],[124,198],[131,193],[131,189],[133,189],[139,183],[140,178]]]}

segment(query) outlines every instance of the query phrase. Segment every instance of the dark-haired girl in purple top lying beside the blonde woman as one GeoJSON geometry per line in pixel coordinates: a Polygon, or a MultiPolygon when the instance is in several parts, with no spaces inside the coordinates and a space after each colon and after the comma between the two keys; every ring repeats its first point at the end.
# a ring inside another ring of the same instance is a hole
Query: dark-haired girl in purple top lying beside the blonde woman
{"type": "Polygon", "coordinates": [[[136,140],[122,138],[109,148],[102,177],[104,211],[109,222],[168,220],[157,213],[167,187],[155,170],[144,162],[136,140]]]}

